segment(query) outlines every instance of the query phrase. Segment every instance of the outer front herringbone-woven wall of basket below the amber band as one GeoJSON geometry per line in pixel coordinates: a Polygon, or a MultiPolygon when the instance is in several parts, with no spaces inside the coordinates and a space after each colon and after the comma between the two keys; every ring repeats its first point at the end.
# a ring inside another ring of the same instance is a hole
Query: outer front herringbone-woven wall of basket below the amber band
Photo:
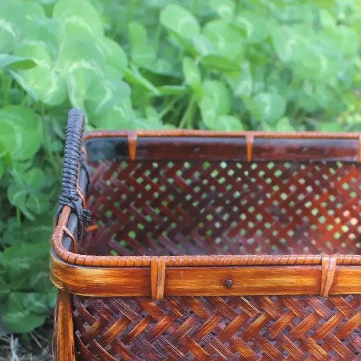
{"type": "Polygon", "coordinates": [[[361,296],[74,296],[79,360],[360,360],[361,296]]]}

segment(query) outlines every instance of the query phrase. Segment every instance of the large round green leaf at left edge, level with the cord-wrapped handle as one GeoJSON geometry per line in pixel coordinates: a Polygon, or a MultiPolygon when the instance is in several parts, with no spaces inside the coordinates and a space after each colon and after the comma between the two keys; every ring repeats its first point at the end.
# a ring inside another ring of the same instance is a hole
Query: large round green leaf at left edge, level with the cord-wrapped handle
{"type": "Polygon", "coordinates": [[[36,113],[20,105],[0,109],[0,142],[14,160],[26,160],[38,151],[42,135],[36,113]]]}

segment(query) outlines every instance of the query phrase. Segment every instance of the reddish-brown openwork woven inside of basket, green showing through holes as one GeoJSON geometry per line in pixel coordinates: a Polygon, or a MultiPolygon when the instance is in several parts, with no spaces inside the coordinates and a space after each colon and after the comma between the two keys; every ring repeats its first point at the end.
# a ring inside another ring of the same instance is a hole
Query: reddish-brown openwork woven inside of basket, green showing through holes
{"type": "Polygon", "coordinates": [[[90,163],[93,255],[358,254],[360,164],[90,163]]]}

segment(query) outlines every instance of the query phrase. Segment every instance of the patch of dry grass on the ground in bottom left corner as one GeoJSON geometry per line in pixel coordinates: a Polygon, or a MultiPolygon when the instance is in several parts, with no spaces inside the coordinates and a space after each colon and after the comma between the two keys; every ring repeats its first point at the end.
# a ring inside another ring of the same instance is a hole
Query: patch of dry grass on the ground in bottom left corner
{"type": "Polygon", "coordinates": [[[26,338],[0,335],[0,361],[51,361],[51,337],[50,322],[26,338]]]}

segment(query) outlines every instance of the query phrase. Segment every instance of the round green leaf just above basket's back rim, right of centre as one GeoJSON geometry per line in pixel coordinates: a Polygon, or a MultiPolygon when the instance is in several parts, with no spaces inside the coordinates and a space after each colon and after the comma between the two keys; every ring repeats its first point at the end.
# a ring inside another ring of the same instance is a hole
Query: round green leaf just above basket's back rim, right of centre
{"type": "Polygon", "coordinates": [[[259,93],[246,104],[256,120],[268,123],[279,120],[286,109],[285,100],[276,93],[259,93]]]}

